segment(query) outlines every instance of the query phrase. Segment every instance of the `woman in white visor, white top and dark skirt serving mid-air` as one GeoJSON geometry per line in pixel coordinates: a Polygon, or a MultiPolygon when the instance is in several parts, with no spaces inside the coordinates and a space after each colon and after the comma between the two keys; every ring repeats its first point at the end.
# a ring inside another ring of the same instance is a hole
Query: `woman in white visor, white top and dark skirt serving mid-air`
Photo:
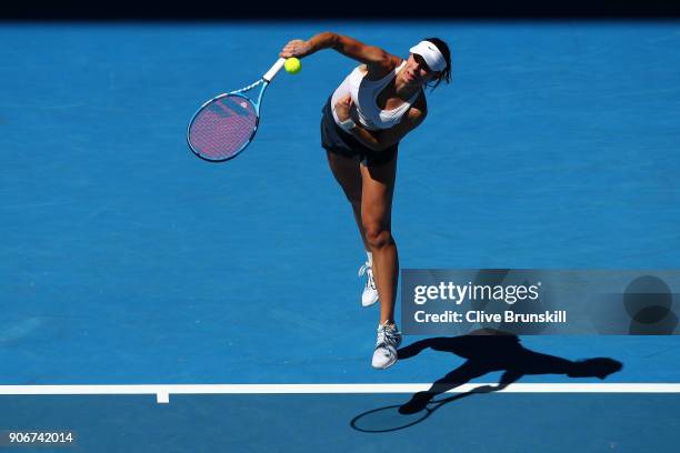
{"type": "Polygon", "coordinates": [[[428,113],[424,87],[447,83],[451,74],[448,46],[428,38],[408,59],[332,32],[288,42],[280,57],[303,58],[333,49],[359,61],[322,109],[321,145],[330,169],[354,212],[368,261],[362,305],[380,300],[380,323],[372,366],[397,362],[401,333],[394,324],[399,260],[391,231],[392,194],[400,141],[428,113]],[[374,279],[374,280],[373,280],[374,279]]]}

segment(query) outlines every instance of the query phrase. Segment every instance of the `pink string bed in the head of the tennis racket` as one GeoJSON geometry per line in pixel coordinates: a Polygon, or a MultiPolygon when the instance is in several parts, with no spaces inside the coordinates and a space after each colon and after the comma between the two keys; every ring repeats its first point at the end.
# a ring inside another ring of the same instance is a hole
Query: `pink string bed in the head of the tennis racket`
{"type": "Polygon", "coordinates": [[[252,102],[242,95],[228,94],[204,105],[189,131],[189,142],[200,157],[227,160],[250,141],[258,125],[252,102]]]}

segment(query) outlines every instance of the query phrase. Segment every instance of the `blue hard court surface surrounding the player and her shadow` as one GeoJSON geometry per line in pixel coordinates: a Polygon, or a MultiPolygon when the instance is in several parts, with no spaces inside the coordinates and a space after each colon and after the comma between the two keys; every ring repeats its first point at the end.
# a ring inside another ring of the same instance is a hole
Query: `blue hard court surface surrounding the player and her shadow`
{"type": "Polygon", "coordinates": [[[452,83],[428,94],[399,154],[402,269],[678,268],[678,22],[3,23],[0,431],[73,429],[88,452],[673,451],[680,391],[654,386],[680,383],[672,335],[523,336],[532,351],[623,369],[527,376],[537,386],[469,395],[390,433],[350,422],[408,392],[286,391],[428,384],[461,363],[427,351],[370,366],[366,255],[319,138],[353,62],[324,51],[281,72],[238,159],[210,164],[187,147],[203,101],[323,30],[404,57],[429,36],[451,47],[452,83]],[[640,386],[537,391],[581,383],[640,386]],[[12,394],[183,384],[282,390],[169,404],[12,394]]]}

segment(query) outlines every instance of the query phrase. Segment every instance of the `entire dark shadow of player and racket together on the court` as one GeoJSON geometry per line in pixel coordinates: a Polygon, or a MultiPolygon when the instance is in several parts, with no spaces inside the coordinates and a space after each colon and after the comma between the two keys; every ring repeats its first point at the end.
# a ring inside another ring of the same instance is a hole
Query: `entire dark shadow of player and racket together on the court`
{"type": "Polygon", "coordinates": [[[431,349],[466,359],[457,369],[434,381],[429,390],[413,394],[410,401],[363,412],[350,425],[361,432],[390,432],[413,426],[450,402],[478,394],[503,390],[524,375],[563,374],[568,378],[606,379],[623,364],[609,358],[571,361],[531,351],[520,344],[517,335],[483,329],[460,336],[441,336],[417,341],[398,351],[399,360],[408,360],[431,349]],[[481,385],[470,392],[434,400],[438,395],[467,384],[484,374],[502,371],[498,385],[481,385]]]}

